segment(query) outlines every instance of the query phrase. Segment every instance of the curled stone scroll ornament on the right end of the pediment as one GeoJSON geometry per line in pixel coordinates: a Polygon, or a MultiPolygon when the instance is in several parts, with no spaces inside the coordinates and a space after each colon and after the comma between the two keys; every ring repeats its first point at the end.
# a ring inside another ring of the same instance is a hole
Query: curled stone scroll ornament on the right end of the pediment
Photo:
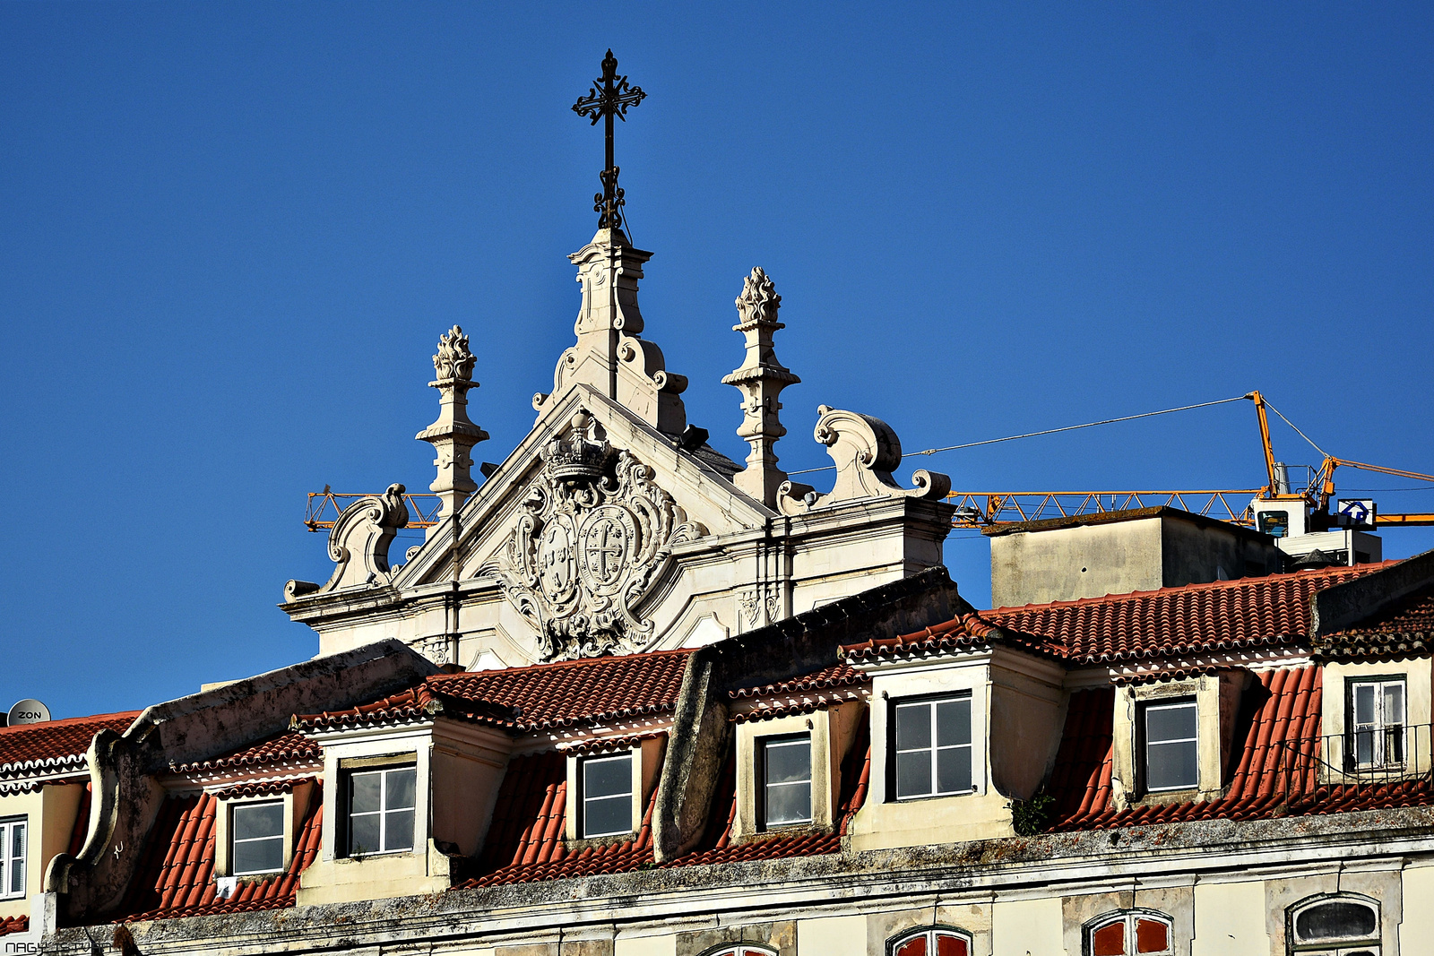
{"type": "Polygon", "coordinates": [[[858,499],[936,499],[951,492],[948,476],[926,469],[912,473],[915,487],[896,484],[892,472],[901,464],[901,439],[880,419],[830,406],[817,406],[817,414],[820,417],[815,437],[826,446],[826,453],[836,464],[836,482],[826,494],[817,494],[809,484],[784,482],[779,497],[783,515],[799,515],[858,499]]]}

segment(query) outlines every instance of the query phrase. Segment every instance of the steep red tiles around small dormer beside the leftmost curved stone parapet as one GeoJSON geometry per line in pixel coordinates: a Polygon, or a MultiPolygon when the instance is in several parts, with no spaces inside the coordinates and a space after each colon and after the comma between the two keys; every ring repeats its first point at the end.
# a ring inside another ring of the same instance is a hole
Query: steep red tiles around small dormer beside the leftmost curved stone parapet
{"type": "Polygon", "coordinates": [[[294,906],[298,877],[318,854],[323,806],[314,788],[295,836],[294,857],[284,873],[242,879],[229,899],[219,899],[214,880],[212,794],[169,797],[149,830],[143,857],[115,922],[215,916],[294,906]]]}

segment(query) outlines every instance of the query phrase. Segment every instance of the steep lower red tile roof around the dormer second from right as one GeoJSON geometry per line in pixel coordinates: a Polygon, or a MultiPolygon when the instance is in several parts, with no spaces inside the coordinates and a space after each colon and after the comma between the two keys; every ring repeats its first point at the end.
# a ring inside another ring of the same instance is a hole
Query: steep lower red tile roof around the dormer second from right
{"type": "Polygon", "coordinates": [[[1187,820],[1249,820],[1351,813],[1434,804],[1428,777],[1381,784],[1322,785],[1319,745],[1321,668],[1305,665],[1256,674],[1235,728],[1219,800],[1133,806],[1111,801],[1114,691],[1071,694],[1065,734],[1047,791],[1055,795],[1053,830],[1104,830],[1187,820]]]}

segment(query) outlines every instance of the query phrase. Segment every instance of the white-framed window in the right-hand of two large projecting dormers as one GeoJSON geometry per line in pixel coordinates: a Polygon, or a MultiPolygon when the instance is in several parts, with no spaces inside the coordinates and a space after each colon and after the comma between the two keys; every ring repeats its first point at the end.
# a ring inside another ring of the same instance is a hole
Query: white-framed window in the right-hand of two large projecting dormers
{"type": "Polygon", "coordinates": [[[971,694],[898,704],[896,798],[971,793],[971,694]]]}

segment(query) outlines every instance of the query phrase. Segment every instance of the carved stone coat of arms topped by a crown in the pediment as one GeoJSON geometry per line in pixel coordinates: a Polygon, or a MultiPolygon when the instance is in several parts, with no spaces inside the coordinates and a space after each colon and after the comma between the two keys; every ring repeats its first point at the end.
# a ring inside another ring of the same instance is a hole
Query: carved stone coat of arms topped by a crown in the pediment
{"type": "Polygon", "coordinates": [[[500,559],[479,569],[538,631],[548,661],[641,649],[654,625],[638,605],[673,548],[707,533],[652,483],[652,469],[598,430],[578,413],[539,453],[518,526],[500,559]]]}

